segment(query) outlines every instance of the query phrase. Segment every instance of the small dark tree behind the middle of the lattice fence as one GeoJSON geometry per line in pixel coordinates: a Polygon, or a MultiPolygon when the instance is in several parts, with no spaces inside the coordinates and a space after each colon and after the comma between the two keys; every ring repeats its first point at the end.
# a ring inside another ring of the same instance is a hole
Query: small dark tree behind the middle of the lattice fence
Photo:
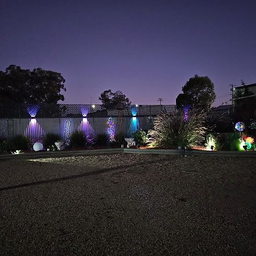
{"type": "Polygon", "coordinates": [[[98,99],[102,101],[102,105],[106,109],[125,108],[131,105],[129,98],[127,98],[120,90],[117,90],[115,93],[110,89],[104,90],[98,99]]]}

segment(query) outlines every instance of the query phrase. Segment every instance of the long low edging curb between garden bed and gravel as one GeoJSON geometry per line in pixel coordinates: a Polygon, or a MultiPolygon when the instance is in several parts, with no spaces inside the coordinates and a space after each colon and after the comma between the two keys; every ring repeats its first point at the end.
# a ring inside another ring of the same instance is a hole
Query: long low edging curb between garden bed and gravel
{"type": "Polygon", "coordinates": [[[212,156],[239,156],[256,158],[256,151],[201,151],[201,150],[164,150],[164,149],[138,149],[138,148],[105,148],[96,150],[73,151],[40,151],[33,153],[0,155],[1,159],[28,159],[43,157],[63,157],[73,155],[102,155],[102,154],[161,154],[161,155],[212,155],[212,156]]]}

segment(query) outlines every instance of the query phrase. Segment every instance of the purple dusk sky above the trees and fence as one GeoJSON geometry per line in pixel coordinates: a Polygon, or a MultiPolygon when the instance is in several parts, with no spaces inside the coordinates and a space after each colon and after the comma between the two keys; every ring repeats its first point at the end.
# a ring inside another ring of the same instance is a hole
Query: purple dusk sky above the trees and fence
{"type": "Polygon", "coordinates": [[[66,104],[100,104],[107,89],[175,104],[197,74],[213,81],[217,106],[229,84],[256,82],[255,14],[255,0],[1,0],[0,70],[60,72],[66,104]]]}

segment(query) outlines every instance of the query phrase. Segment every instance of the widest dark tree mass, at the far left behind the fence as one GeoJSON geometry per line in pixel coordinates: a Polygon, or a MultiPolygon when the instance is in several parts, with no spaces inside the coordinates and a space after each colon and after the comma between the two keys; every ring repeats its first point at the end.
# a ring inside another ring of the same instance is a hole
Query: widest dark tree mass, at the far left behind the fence
{"type": "Polygon", "coordinates": [[[0,71],[1,103],[53,103],[64,101],[61,89],[65,79],[61,73],[35,68],[33,71],[10,65],[0,71]]]}

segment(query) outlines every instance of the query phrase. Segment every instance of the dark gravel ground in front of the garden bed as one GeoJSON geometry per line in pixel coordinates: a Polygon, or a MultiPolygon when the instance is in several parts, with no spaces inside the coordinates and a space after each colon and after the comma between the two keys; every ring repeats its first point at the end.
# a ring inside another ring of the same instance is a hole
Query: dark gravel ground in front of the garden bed
{"type": "Polygon", "coordinates": [[[255,255],[256,158],[0,160],[0,255],[255,255]]]}

